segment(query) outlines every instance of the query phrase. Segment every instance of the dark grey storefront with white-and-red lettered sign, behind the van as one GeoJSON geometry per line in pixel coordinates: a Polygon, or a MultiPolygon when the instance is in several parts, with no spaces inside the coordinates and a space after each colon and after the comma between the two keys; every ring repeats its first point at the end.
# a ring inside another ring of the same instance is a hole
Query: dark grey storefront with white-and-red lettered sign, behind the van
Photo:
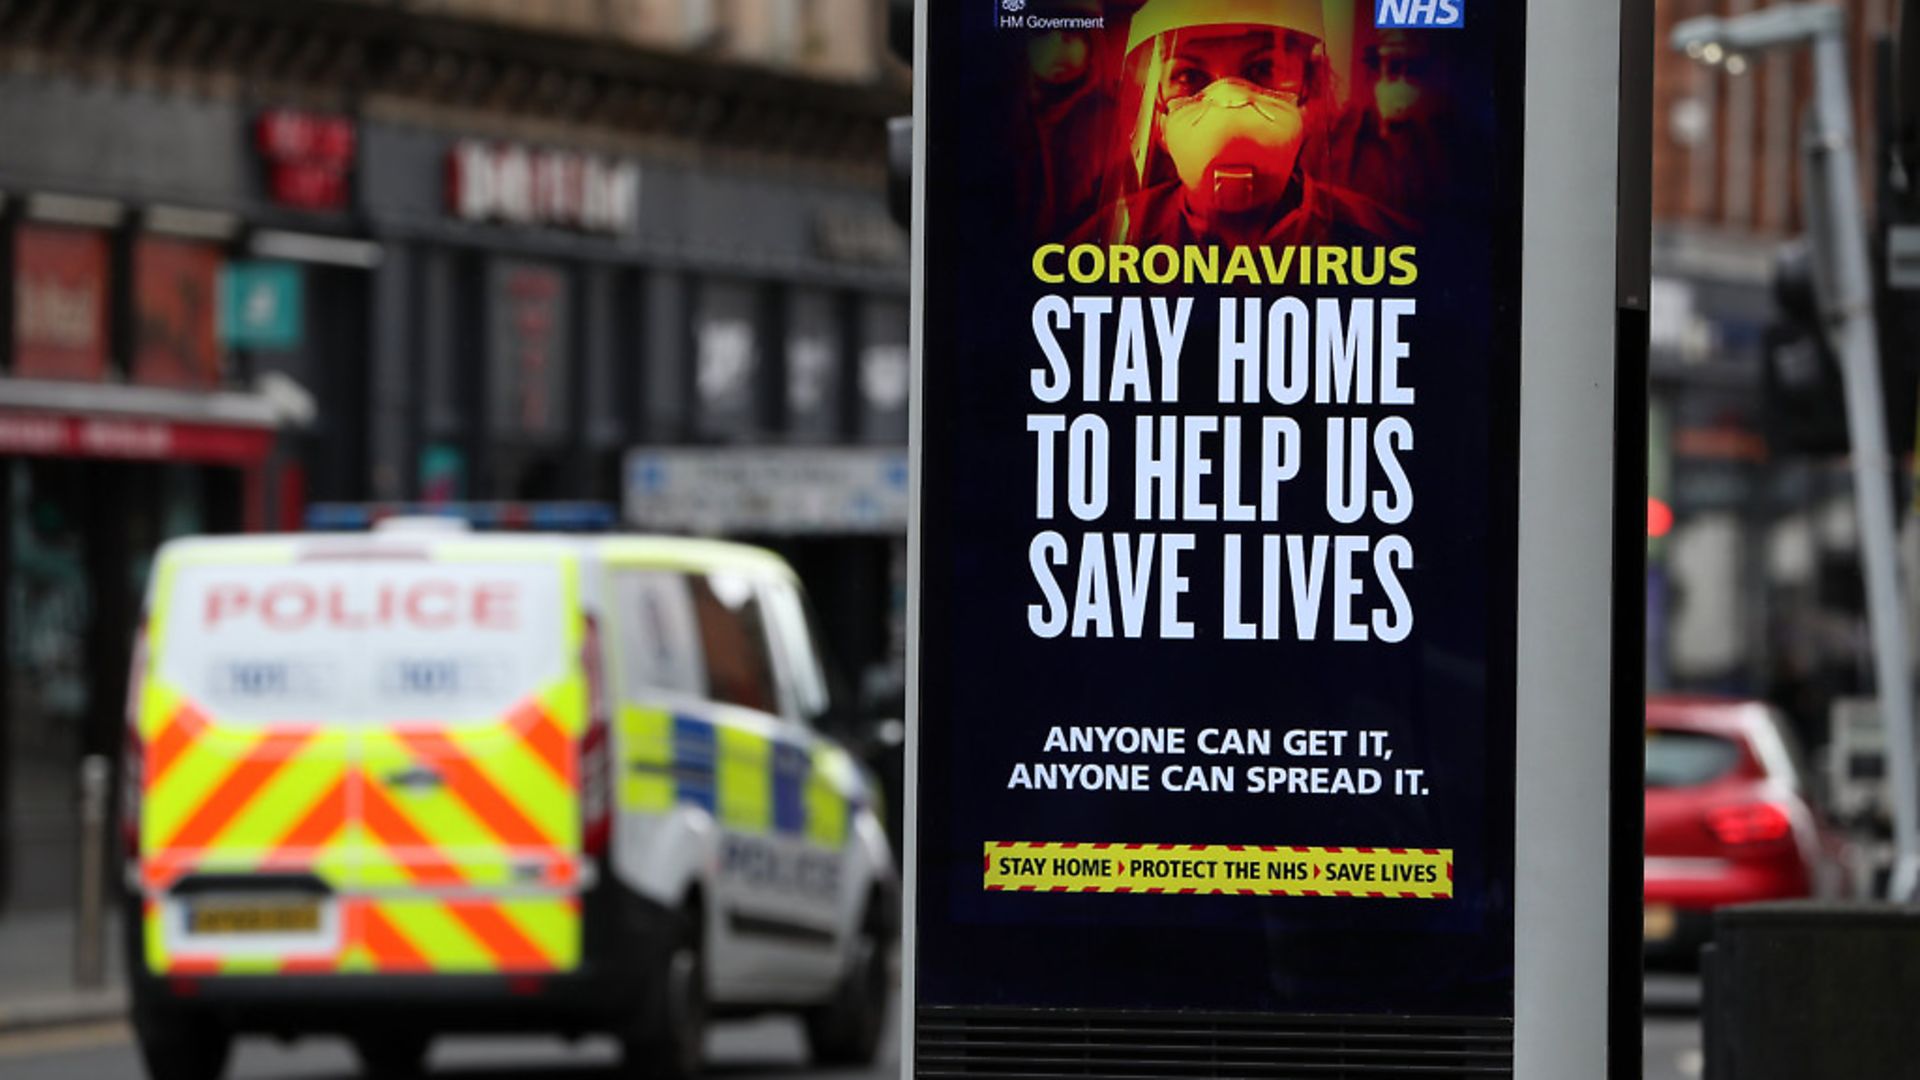
{"type": "Polygon", "coordinates": [[[849,675],[899,675],[904,513],[647,513],[622,471],[634,446],[904,461],[906,236],[877,190],[384,123],[363,169],[372,496],[624,502],[768,544],[849,675]]]}

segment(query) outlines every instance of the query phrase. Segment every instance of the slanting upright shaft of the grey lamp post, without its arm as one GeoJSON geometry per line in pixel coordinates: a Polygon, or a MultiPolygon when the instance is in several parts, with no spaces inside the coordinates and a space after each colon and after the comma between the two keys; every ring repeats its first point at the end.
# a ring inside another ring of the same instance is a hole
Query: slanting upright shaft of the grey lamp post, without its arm
{"type": "Polygon", "coordinates": [[[1862,229],[1860,181],[1853,150],[1853,94],[1847,85],[1845,17],[1812,35],[1814,123],[1807,167],[1822,173],[1826,219],[1814,234],[1832,273],[1828,319],[1847,388],[1853,436],[1853,502],[1860,515],[1860,559],[1866,569],[1866,619],[1874,638],[1874,673],[1887,732],[1893,786],[1891,899],[1910,899],[1920,884],[1920,792],[1914,784],[1912,667],[1907,609],[1901,601],[1893,540],[1893,459],[1880,388],[1880,342],[1874,332],[1872,271],[1862,229]]]}

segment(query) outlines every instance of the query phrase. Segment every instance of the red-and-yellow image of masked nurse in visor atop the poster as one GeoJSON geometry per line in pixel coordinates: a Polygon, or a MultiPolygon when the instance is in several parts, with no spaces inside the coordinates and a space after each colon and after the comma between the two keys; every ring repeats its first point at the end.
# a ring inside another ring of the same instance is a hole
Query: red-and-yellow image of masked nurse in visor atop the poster
{"type": "MultiPolygon", "coordinates": [[[[1018,0],[1016,0],[1018,2],[1018,0]]],[[[1463,192],[1486,117],[1452,100],[1452,37],[1361,0],[1035,0],[1021,188],[1037,236],[1375,244],[1463,192]],[[1096,25],[1087,25],[1096,23],[1096,25]]],[[[1461,208],[1452,208],[1459,211],[1461,208]]]]}

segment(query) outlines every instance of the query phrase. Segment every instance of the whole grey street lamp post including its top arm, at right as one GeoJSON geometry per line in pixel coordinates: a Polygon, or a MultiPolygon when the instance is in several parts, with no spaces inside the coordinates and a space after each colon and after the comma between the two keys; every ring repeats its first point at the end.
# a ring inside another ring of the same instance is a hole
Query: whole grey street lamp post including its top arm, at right
{"type": "Polygon", "coordinates": [[[1707,15],[1674,27],[1672,46],[1709,65],[1740,73],[1743,54],[1812,48],[1814,98],[1805,135],[1809,234],[1822,321],[1839,356],[1853,457],[1853,500],[1860,515],[1866,565],[1866,617],[1874,640],[1880,713],[1893,784],[1891,899],[1910,899],[1920,884],[1920,786],[1914,780],[1912,678],[1907,611],[1901,600],[1893,527],[1893,459],[1880,388],[1872,273],[1853,158],[1853,96],[1847,86],[1845,15],[1834,4],[1782,4],[1730,19],[1707,15]]]}

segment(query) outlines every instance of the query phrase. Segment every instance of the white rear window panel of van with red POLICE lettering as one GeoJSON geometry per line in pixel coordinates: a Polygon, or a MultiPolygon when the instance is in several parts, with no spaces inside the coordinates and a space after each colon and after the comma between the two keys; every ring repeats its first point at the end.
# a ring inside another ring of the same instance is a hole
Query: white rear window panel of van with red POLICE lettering
{"type": "Polygon", "coordinates": [[[219,721],[495,719],[566,671],[545,561],[182,565],[156,673],[219,721]]]}

